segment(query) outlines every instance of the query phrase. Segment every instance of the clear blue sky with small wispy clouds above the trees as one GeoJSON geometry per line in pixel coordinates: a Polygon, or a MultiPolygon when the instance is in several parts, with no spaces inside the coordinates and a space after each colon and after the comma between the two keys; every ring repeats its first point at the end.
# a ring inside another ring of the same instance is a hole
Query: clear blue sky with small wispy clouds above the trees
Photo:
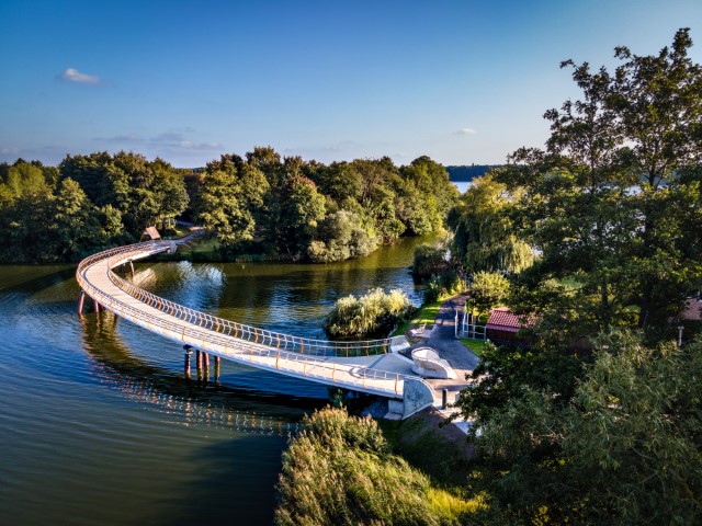
{"type": "Polygon", "coordinates": [[[499,164],[577,99],[573,59],[656,54],[700,0],[0,0],[0,161],[499,164]]]}

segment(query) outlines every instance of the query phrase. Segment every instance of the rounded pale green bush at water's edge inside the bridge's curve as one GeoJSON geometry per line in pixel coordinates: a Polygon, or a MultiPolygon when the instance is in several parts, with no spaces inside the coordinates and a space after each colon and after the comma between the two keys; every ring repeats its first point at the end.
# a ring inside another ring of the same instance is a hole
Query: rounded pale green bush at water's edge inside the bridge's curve
{"type": "Polygon", "coordinates": [[[404,291],[374,288],[360,298],[339,298],[327,316],[325,329],[333,338],[381,336],[414,311],[404,291]]]}

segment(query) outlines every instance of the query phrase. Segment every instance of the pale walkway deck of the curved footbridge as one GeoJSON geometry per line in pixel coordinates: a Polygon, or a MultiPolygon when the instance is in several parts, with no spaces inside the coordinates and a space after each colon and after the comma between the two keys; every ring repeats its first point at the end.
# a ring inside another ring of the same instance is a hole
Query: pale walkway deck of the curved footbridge
{"type": "MultiPolygon", "coordinates": [[[[167,250],[167,248],[168,245],[162,242],[147,242],[122,248],[126,250],[113,250],[95,254],[83,260],[79,265],[77,272],[78,282],[81,288],[103,308],[183,345],[192,345],[195,348],[226,359],[296,378],[403,399],[405,379],[410,375],[367,366],[382,362],[382,357],[361,356],[353,358],[338,355],[306,355],[304,342],[313,341],[302,340],[299,341],[299,346],[295,347],[297,351],[281,348],[281,342],[287,346],[287,338],[290,338],[294,347],[295,341],[293,336],[283,335],[283,340],[281,340],[280,334],[267,331],[258,332],[259,330],[257,329],[253,329],[253,333],[249,331],[248,334],[239,332],[239,328],[245,328],[246,325],[234,324],[205,313],[195,316],[195,311],[163,298],[158,298],[125,282],[112,272],[112,268],[120,264],[148,258],[167,250]],[[253,334],[256,334],[256,341],[251,341],[253,340],[253,334]],[[265,343],[267,339],[268,343],[265,343]],[[258,343],[259,340],[261,343],[258,343]]],[[[377,341],[366,343],[366,353],[369,348],[377,348],[377,341]],[[372,345],[374,347],[371,347],[372,345]]],[[[383,344],[380,345],[382,346],[383,344]]],[[[308,350],[310,346],[314,347],[314,344],[307,343],[308,350]]],[[[387,350],[387,343],[385,343],[385,350],[387,350]]],[[[354,345],[349,348],[353,350],[352,353],[358,354],[359,348],[364,348],[363,342],[361,342],[361,345],[354,345]]],[[[327,352],[326,347],[325,352],[327,352]]],[[[348,348],[347,354],[349,354],[348,348]]],[[[399,364],[397,356],[395,355],[393,358],[396,364],[383,368],[401,369],[401,364],[400,367],[397,367],[397,364],[399,364]]],[[[415,377],[415,379],[417,378],[415,377]]]]}

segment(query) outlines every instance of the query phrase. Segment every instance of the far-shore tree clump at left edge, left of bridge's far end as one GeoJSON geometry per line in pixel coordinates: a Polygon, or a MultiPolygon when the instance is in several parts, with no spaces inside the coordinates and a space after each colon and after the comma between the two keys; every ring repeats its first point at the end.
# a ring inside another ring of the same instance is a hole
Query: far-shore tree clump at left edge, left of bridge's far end
{"type": "Polygon", "coordinates": [[[188,205],[182,175],[134,153],[67,157],[58,168],[0,165],[1,263],[72,261],[144,227],[172,221],[188,205]]]}

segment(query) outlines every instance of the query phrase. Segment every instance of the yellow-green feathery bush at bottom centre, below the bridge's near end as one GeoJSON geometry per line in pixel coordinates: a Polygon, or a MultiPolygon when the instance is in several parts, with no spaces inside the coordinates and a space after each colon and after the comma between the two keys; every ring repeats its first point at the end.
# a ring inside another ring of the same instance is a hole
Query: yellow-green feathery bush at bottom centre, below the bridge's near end
{"type": "Polygon", "coordinates": [[[283,455],[276,525],[450,525],[475,511],[390,453],[375,421],[325,409],[283,455]]]}

